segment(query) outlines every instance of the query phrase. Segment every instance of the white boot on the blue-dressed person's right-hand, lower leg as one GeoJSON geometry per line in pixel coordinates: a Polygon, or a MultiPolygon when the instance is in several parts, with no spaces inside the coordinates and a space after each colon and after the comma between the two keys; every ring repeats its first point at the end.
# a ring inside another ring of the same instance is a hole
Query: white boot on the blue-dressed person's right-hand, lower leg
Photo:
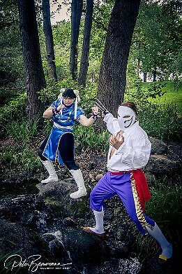
{"type": "Polygon", "coordinates": [[[72,174],[78,187],[77,191],[70,193],[70,198],[77,199],[86,196],[86,187],[84,186],[84,179],[81,170],[70,170],[70,174],[72,174]]]}

